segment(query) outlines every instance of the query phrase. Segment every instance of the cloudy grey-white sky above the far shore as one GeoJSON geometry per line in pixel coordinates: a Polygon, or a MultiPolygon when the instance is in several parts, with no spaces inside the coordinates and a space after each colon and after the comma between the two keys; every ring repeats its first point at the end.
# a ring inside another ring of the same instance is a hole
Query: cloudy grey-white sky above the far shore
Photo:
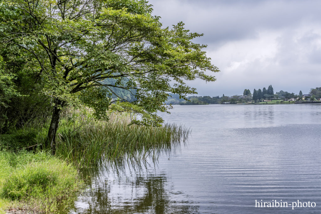
{"type": "Polygon", "coordinates": [[[179,21],[219,68],[215,82],[189,81],[199,96],[273,86],[303,94],[321,87],[321,1],[150,0],[164,27],[179,21]]]}

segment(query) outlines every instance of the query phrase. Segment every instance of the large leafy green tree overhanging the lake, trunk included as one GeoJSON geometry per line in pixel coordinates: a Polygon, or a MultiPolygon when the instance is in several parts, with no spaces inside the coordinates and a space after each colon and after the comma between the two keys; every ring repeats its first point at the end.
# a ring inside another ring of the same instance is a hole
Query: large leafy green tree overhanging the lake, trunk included
{"type": "Polygon", "coordinates": [[[133,123],[158,125],[168,93],[186,98],[196,93],[186,80],[215,81],[204,72],[219,71],[202,50],[206,45],[192,42],[202,34],[182,22],[162,28],[145,0],[4,0],[0,13],[0,41],[25,57],[25,69],[51,99],[52,148],[67,105],[91,107],[97,118],[108,110],[133,112],[141,115],[133,123]],[[110,78],[116,83],[104,81],[110,78]],[[136,90],[137,100],[127,102],[115,88],[136,90]]]}

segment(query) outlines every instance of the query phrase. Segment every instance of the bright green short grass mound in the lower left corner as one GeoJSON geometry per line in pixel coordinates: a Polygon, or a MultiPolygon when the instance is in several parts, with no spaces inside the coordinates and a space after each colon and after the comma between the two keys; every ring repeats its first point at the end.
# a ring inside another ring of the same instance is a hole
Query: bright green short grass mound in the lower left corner
{"type": "Polygon", "coordinates": [[[0,213],[11,207],[51,213],[82,185],[76,167],[47,152],[0,151],[0,213]]]}

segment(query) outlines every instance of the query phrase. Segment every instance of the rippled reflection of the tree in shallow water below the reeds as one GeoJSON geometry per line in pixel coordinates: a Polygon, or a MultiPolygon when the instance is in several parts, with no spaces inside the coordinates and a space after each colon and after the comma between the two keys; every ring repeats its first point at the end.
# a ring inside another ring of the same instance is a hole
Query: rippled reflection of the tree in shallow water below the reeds
{"type": "Polygon", "coordinates": [[[173,190],[168,175],[155,175],[155,168],[143,166],[83,168],[87,189],[69,213],[199,213],[195,202],[173,190]]]}

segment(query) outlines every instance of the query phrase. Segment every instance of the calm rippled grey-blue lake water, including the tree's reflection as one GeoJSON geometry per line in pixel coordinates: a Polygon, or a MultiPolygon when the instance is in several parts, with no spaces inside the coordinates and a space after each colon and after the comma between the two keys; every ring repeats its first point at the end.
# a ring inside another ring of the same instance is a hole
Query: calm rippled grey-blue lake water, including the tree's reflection
{"type": "Polygon", "coordinates": [[[191,127],[188,142],[157,163],[84,170],[88,188],[70,213],[321,213],[321,105],[174,106],[161,116],[191,127]],[[316,207],[292,210],[298,200],[316,207]]]}

